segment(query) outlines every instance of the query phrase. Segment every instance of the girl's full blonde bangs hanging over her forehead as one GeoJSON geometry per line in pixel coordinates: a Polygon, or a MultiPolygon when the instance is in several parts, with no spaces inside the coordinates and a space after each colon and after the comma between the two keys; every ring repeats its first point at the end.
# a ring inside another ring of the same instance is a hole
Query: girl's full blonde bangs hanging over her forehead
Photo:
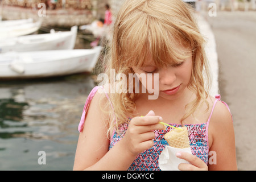
{"type": "Polygon", "coordinates": [[[123,63],[130,67],[142,67],[150,56],[154,65],[165,68],[180,64],[192,55],[191,43],[180,30],[169,24],[163,26],[145,13],[137,17],[119,42],[123,63]]]}

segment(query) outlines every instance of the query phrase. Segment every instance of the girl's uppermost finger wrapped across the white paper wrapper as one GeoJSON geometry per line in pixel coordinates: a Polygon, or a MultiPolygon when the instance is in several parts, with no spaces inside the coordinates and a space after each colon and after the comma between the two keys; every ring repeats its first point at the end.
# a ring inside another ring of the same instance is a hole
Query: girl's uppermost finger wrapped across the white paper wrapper
{"type": "Polygon", "coordinates": [[[188,152],[177,152],[176,153],[177,158],[187,160],[187,162],[191,163],[193,166],[204,168],[205,163],[203,160],[197,158],[197,156],[193,154],[189,154],[188,152]]]}

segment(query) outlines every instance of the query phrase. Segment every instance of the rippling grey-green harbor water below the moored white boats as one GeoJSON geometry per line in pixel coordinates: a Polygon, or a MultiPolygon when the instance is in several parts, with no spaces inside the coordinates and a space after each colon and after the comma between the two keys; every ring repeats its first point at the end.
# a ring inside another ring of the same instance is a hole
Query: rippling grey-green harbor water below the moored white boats
{"type": "Polygon", "coordinates": [[[0,170],[72,170],[77,127],[94,85],[84,73],[1,81],[0,170]]]}

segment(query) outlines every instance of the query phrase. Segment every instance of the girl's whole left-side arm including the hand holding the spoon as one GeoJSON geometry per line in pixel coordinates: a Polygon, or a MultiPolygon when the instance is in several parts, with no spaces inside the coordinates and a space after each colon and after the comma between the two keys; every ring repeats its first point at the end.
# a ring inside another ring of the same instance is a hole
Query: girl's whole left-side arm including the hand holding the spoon
{"type": "MultiPolygon", "coordinates": [[[[163,129],[159,117],[131,119],[125,137],[108,150],[108,119],[100,109],[100,93],[96,93],[86,113],[84,129],[77,143],[74,170],[127,170],[139,152],[152,147],[155,134],[163,129]]],[[[109,102],[107,99],[104,102],[109,102]]],[[[101,106],[102,107],[102,106],[101,106]]]]}

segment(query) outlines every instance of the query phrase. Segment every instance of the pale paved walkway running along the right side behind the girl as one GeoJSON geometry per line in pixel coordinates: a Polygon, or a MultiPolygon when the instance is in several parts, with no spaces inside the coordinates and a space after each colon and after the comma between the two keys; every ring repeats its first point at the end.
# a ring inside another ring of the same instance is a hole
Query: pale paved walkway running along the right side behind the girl
{"type": "Polygon", "coordinates": [[[233,115],[239,170],[256,170],[256,12],[220,11],[208,18],[216,39],[219,87],[233,115]]]}

